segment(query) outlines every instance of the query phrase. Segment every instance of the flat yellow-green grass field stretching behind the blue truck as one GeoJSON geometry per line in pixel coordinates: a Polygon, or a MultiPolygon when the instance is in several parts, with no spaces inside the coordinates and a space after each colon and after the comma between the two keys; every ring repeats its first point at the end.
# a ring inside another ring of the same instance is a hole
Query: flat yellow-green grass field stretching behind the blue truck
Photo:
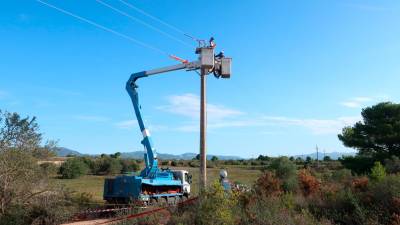
{"type": "MultiPolygon", "coordinates": [[[[188,170],[193,176],[191,185],[192,195],[197,195],[199,185],[199,168],[193,167],[171,167],[173,170],[188,170]]],[[[210,184],[219,178],[219,168],[207,169],[207,183],[210,184]]],[[[240,182],[242,184],[251,185],[259,177],[261,171],[251,170],[243,167],[228,167],[228,178],[231,182],[240,182]]],[[[86,192],[93,195],[96,201],[103,200],[103,183],[106,176],[87,175],[78,179],[55,179],[57,183],[65,185],[68,189],[77,193],[86,192]]]]}

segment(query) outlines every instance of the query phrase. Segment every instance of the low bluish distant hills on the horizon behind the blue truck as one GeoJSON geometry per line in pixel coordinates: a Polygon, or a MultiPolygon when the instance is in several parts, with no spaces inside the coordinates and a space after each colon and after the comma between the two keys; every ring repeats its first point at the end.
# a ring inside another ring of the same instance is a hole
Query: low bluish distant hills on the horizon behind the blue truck
{"type": "MultiPolygon", "coordinates": [[[[87,155],[87,154],[82,154],[78,151],[71,150],[71,149],[64,148],[64,147],[57,148],[57,150],[55,152],[56,152],[57,156],[60,156],[60,157],[65,157],[67,155],[76,155],[76,156],[87,155]]],[[[121,157],[129,158],[129,159],[143,159],[143,153],[144,153],[143,151],[121,152],[121,157]]],[[[89,156],[97,156],[97,155],[89,155],[89,156]]],[[[173,160],[173,159],[191,160],[191,159],[195,158],[196,155],[197,155],[196,153],[183,153],[180,155],[174,155],[174,154],[168,154],[168,153],[157,153],[157,157],[159,159],[163,159],[163,160],[173,160]]],[[[213,156],[214,155],[207,155],[207,159],[210,160],[213,156]]],[[[242,159],[241,157],[238,157],[238,156],[229,156],[229,155],[216,155],[216,156],[220,160],[242,159]]]]}

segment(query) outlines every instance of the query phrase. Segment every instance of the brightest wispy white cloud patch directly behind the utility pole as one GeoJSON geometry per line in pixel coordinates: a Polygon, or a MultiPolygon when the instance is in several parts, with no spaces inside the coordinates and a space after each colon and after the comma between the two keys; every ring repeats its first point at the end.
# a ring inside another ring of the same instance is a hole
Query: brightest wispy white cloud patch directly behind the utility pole
{"type": "MultiPolygon", "coordinates": [[[[172,95],[167,98],[168,104],[157,107],[160,110],[196,119],[200,113],[200,98],[194,94],[172,95]]],[[[207,117],[209,121],[221,120],[228,117],[242,115],[243,113],[222,105],[207,104],[207,117]]]]}

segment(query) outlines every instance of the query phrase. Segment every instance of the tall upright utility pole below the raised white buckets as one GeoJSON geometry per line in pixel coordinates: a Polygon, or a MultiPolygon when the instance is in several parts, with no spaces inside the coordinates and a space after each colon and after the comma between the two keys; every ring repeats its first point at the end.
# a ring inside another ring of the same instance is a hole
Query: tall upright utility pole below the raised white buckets
{"type": "Polygon", "coordinates": [[[200,187],[207,184],[207,149],[206,149],[206,129],[207,129],[207,99],[206,81],[207,71],[200,70],[200,187]]]}

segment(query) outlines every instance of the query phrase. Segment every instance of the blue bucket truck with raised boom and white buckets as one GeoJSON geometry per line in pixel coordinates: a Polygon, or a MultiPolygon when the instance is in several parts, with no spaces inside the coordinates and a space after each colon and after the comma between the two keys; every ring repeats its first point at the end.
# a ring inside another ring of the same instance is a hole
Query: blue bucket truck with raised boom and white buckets
{"type": "Polygon", "coordinates": [[[104,182],[103,199],[108,202],[133,203],[144,205],[153,203],[175,204],[190,194],[191,175],[186,170],[160,169],[157,153],[151,140],[149,129],[146,127],[139,105],[137,81],[141,78],[176,70],[204,69],[213,72],[216,77],[229,78],[231,59],[223,54],[214,55],[213,46],[203,46],[196,49],[199,54],[197,61],[181,61],[181,64],[133,73],[126,83],[126,90],[131,98],[135,115],[143,135],[141,144],[145,148],[145,168],[140,175],[120,175],[107,178],[104,182]]]}

